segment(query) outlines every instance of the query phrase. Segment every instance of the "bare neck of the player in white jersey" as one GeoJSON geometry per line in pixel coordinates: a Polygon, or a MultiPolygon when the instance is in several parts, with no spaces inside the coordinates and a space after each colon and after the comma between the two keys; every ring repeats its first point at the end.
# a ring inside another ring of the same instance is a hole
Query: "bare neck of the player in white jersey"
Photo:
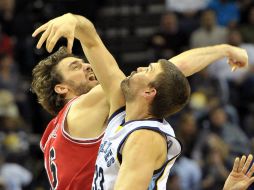
{"type": "Polygon", "coordinates": [[[149,119],[152,115],[148,113],[148,105],[141,103],[141,101],[126,103],[126,117],[125,121],[149,119]]]}

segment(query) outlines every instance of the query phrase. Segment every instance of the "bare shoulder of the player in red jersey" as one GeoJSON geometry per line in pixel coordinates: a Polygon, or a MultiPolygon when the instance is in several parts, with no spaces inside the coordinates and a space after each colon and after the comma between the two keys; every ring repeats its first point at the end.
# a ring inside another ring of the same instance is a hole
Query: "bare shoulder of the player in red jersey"
{"type": "Polygon", "coordinates": [[[100,85],[80,96],[71,106],[65,130],[72,137],[95,138],[105,130],[109,104],[100,85]]]}

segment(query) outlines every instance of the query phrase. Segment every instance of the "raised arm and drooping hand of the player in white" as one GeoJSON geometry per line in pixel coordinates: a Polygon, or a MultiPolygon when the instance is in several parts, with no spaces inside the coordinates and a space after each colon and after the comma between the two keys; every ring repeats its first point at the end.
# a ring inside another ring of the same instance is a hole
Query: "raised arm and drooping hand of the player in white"
{"type": "Polygon", "coordinates": [[[120,83],[125,75],[104,46],[94,25],[88,19],[68,13],[42,25],[33,33],[33,36],[35,37],[41,32],[43,34],[37,48],[46,42],[46,48],[49,52],[52,51],[60,37],[67,39],[67,48],[71,52],[74,38],[77,38],[110,102],[110,113],[124,105],[125,101],[120,83]]]}

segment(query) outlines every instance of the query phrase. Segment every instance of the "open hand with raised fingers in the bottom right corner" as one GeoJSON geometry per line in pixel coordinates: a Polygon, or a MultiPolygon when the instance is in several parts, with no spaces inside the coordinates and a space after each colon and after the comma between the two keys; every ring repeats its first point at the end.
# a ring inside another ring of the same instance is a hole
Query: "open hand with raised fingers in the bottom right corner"
{"type": "Polygon", "coordinates": [[[235,159],[233,169],[225,182],[223,190],[246,190],[254,182],[254,177],[252,177],[254,164],[249,169],[252,159],[252,155],[249,155],[247,160],[246,156],[242,156],[241,160],[238,157],[235,159]]]}

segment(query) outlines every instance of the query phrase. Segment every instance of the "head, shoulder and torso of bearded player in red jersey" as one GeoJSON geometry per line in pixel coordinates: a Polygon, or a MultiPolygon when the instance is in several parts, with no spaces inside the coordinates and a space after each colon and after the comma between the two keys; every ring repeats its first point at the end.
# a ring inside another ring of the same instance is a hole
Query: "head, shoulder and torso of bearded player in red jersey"
{"type": "Polygon", "coordinates": [[[64,47],[33,70],[33,91],[56,115],[40,142],[52,189],[91,189],[109,109],[97,84],[90,65],[64,47]]]}

